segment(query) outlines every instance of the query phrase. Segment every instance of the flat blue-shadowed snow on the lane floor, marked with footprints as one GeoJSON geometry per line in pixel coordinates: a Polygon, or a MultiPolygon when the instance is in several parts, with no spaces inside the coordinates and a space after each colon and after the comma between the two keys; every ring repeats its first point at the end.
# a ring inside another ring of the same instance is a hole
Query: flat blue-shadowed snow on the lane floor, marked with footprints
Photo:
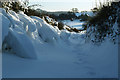
{"type": "Polygon", "coordinates": [[[113,46],[113,44],[110,43],[104,43],[100,47],[95,47],[91,44],[67,47],[65,46],[58,47],[51,45],[49,46],[42,45],[41,47],[39,46],[37,48],[39,53],[39,60],[28,60],[17,57],[15,55],[5,53],[3,54],[4,62],[3,77],[9,78],[118,77],[117,46],[113,46]],[[9,68],[7,65],[9,65],[9,68]]]}

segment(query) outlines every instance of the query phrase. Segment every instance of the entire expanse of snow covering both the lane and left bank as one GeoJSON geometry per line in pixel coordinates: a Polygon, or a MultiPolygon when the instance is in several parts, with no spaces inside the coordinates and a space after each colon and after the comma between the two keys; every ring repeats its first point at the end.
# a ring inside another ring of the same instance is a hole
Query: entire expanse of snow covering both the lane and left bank
{"type": "MultiPolygon", "coordinates": [[[[60,31],[39,17],[4,13],[0,12],[4,22],[10,22],[4,42],[13,52],[2,54],[3,78],[118,77],[117,44],[106,40],[97,46],[85,41],[86,31],[60,31]]],[[[66,22],[70,26],[82,24],[78,20],[66,22]]]]}

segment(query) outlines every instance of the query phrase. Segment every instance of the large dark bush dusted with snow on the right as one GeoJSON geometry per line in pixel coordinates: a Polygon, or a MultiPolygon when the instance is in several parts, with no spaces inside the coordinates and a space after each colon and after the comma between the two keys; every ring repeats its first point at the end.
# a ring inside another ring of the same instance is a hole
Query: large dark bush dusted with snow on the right
{"type": "MultiPolygon", "coordinates": [[[[94,38],[92,42],[102,42],[106,36],[110,36],[111,40],[115,41],[118,31],[115,32],[114,24],[116,20],[119,23],[120,2],[113,2],[111,6],[107,5],[97,11],[96,16],[93,16],[84,25],[87,29],[87,37],[94,38]]],[[[119,25],[118,25],[119,26],[119,25]]],[[[116,27],[118,27],[116,25],[116,27]]]]}

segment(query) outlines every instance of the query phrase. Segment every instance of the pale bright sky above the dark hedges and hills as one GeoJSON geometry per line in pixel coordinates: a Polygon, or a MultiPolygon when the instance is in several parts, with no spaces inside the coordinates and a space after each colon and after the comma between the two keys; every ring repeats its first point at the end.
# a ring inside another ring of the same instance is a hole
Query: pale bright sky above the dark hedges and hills
{"type": "Polygon", "coordinates": [[[79,11],[90,10],[95,6],[95,0],[29,0],[30,4],[41,4],[41,9],[47,11],[79,11]]]}

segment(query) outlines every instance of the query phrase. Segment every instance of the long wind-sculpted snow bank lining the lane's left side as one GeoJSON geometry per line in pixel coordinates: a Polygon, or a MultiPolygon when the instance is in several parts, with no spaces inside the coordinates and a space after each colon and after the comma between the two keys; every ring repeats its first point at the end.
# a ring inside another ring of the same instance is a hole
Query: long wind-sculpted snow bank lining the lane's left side
{"type": "MultiPolygon", "coordinates": [[[[4,41],[4,44],[7,44],[15,54],[21,57],[37,58],[34,40],[39,40],[43,43],[59,44],[61,37],[64,37],[67,33],[66,30],[62,31],[65,33],[61,33],[58,28],[47,24],[41,18],[35,16],[29,17],[23,12],[15,13],[9,10],[7,13],[2,8],[0,10],[0,15],[3,17],[2,42],[4,41]]],[[[68,35],[70,37],[68,42],[78,43],[81,40],[80,38],[78,39],[78,35],[72,37],[73,33],[69,32],[68,35]]],[[[3,48],[6,49],[6,46],[3,48]]]]}

